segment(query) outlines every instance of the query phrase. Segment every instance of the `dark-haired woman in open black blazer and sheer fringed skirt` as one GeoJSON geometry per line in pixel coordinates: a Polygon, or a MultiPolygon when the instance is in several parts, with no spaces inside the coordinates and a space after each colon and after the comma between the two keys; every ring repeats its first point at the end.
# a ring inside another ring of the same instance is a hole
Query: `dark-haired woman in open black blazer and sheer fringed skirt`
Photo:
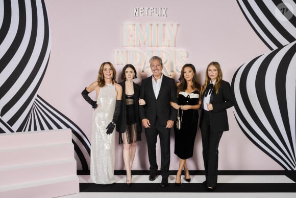
{"type": "Polygon", "coordinates": [[[142,127],[139,119],[139,102],[145,104],[144,100],[139,100],[140,85],[133,82],[137,78],[137,72],[132,64],[127,64],[122,69],[121,74],[122,102],[121,111],[116,124],[119,132],[119,144],[124,145],[123,157],[127,170],[127,185],[132,183],[132,164],[136,153],[136,142],[141,141],[142,127]]]}

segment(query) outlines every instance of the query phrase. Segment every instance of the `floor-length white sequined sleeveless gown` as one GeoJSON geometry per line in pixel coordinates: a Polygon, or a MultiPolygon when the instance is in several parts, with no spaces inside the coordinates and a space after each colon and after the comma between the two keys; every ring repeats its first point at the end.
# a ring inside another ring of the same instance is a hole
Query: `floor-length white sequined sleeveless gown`
{"type": "Polygon", "coordinates": [[[115,133],[106,134],[106,127],[115,110],[115,85],[100,87],[96,103],[91,124],[90,178],[96,184],[112,184],[115,182],[115,133]]]}

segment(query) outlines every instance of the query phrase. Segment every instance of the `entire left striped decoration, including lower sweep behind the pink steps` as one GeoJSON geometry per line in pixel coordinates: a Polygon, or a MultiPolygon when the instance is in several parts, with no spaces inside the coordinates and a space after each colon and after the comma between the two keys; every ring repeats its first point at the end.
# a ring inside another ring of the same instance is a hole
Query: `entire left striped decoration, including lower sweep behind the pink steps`
{"type": "Polygon", "coordinates": [[[71,128],[77,168],[89,170],[83,131],[37,95],[51,50],[44,1],[0,1],[0,133],[71,128]]]}

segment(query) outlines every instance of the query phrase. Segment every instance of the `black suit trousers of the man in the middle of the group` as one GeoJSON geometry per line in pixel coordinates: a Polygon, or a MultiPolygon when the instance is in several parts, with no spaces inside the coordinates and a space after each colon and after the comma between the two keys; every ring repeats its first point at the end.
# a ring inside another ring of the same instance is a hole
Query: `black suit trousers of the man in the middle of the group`
{"type": "Polygon", "coordinates": [[[145,128],[145,135],[147,140],[150,173],[156,173],[158,169],[156,161],[156,142],[157,135],[159,135],[161,149],[160,170],[162,172],[162,180],[166,180],[169,175],[168,169],[170,162],[170,128],[165,128],[164,126],[151,126],[150,128],[145,128]]]}

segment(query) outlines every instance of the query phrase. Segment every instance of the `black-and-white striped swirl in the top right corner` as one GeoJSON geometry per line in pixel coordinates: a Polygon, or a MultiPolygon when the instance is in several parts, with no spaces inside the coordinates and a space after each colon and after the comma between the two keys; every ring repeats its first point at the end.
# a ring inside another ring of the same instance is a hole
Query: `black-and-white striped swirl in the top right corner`
{"type": "Polygon", "coordinates": [[[237,3],[253,30],[270,50],[282,48],[296,40],[296,4],[292,0],[255,1],[237,0],[237,3]],[[289,4],[293,16],[281,21],[275,10],[281,3],[289,4]]]}

